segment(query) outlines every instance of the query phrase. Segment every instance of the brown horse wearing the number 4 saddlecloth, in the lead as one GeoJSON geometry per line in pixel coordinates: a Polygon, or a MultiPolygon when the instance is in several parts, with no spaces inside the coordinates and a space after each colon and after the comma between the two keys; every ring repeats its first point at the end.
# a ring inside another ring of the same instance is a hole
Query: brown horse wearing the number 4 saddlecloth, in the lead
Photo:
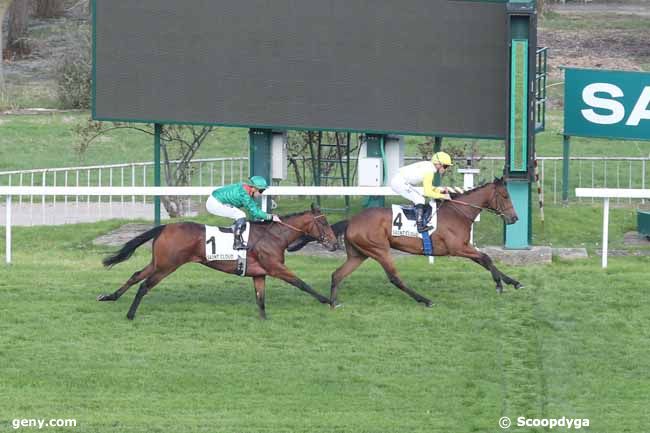
{"type": "MultiPolygon", "coordinates": [[[[436,231],[431,234],[434,255],[467,257],[473,260],[490,271],[498,293],[503,291],[502,281],[513,285],[516,289],[523,287],[518,281],[499,271],[487,254],[478,251],[469,243],[472,223],[482,210],[487,209],[496,213],[505,220],[506,224],[517,221],[517,214],[503,179],[495,179],[492,183],[464,194],[454,194],[452,198],[453,200],[445,201],[438,207],[438,225],[436,231]]],[[[429,299],[402,282],[390,255],[390,248],[422,255],[424,254],[422,239],[392,236],[392,224],[391,209],[370,208],[352,217],[347,224],[339,222],[333,225],[335,233],[345,232],[347,252],[346,262],[332,274],[330,304],[333,307],[337,305],[336,295],[341,281],[368,257],[379,262],[390,282],[400,290],[417,302],[428,307],[432,305],[429,299]]],[[[312,240],[303,236],[289,247],[289,251],[298,250],[312,240]]]]}

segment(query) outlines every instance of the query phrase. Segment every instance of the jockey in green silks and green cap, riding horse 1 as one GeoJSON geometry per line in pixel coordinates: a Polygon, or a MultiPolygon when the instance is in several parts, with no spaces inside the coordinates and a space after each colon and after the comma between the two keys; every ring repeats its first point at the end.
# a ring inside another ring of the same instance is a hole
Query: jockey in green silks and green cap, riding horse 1
{"type": "Polygon", "coordinates": [[[257,206],[254,200],[261,197],[267,187],[266,179],[262,176],[252,176],[247,182],[234,183],[215,189],[208,197],[208,201],[205,203],[208,212],[235,220],[233,249],[247,248],[242,239],[242,233],[246,227],[246,213],[239,208],[245,207],[253,220],[280,222],[280,217],[267,214],[257,206]]]}

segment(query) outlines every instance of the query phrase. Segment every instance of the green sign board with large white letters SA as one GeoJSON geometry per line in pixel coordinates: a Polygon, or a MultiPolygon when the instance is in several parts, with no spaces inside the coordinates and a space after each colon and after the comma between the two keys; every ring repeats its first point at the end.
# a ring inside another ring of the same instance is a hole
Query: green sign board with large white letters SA
{"type": "Polygon", "coordinates": [[[650,140],[650,72],[566,69],[564,135],[650,140]]]}

